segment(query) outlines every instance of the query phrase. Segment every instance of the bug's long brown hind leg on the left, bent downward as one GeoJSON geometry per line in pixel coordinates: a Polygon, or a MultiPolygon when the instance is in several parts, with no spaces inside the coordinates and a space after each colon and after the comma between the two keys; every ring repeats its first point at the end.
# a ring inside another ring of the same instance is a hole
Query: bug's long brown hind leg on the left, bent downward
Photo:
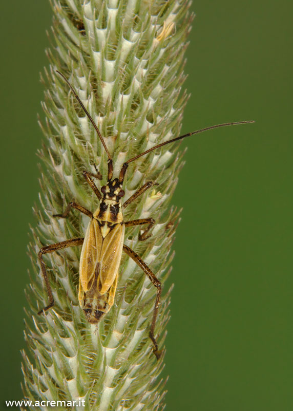
{"type": "Polygon", "coordinates": [[[40,260],[40,267],[41,273],[43,274],[44,281],[47,288],[47,293],[49,297],[48,305],[42,308],[38,314],[41,314],[43,311],[49,310],[49,308],[53,307],[54,305],[54,297],[52,294],[52,289],[49,283],[49,278],[46,271],[46,266],[43,260],[43,254],[53,253],[56,250],[61,250],[62,248],[73,247],[73,246],[80,246],[83,243],[83,238],[72,238],[71,240],[56,242],[55,244],[51,244],[50,246],[42,247],[38,252],[38,258],[40,260]]]}

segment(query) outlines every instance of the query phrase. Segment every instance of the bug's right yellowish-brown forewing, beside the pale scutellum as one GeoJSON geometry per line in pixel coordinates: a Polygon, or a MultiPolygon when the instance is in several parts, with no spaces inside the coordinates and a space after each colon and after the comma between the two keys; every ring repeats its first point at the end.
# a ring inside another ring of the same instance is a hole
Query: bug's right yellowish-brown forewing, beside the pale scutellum
{"type": "MultiPolygon", "coordinates": [[[[103,239],[98,275],[98,291],[107,292],[118,275],[124,242],[124,224],[117,224],[103,239]]],[[[114,287],[114,295],[116,286],[114,287]]]]}

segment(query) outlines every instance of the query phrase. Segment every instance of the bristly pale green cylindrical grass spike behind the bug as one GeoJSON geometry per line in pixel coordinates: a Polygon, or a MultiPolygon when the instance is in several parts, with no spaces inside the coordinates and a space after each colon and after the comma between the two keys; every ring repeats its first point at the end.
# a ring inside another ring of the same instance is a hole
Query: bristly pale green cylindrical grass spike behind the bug
{"type": "MultiPolygon", "coordinates": [[[[163,408],[159,361],[149,338],[155,287],[133,260],[122,255],[114,306],[98,326],[90,325],[77,298],[80,247],[44,257],[55,305],[37,312],[48,296],[37,253],[40,247],[83,236],[89,218],[71,211],[52,217],[74,200],[95,211],[97,198],[83,170],[107,180],[107,155],[98,136],[56,74],[75,87],[104,137],[113,157],[114,177],[132,156],[179,135],[186,95],[183,55],[192,15],[179,0],[52,0],[53,46],[41,128],[46,140],[39,155],[40,203],[35,210],[30,256],[33,265],[27,290],[24,393],[31,400],[59,403],[57,409],[158,410],[163,408]]],[[[178,212],[170,208],[182,155],[170,144],[130,164],[124,180],[125,199],[148,180],[159,183],[130,204],[125,221],[155,218],[153,235],[138,241],[139,228],[127,229],[125,244],[135,250],[164,283],[170,272],[178,212]]],[[[97,183],[100,186],[100,182],[97,183]]],[[[163,349],[169,319],[170,291],[163,289],[156,336],[163,349]]],[[[31,409],[47,409],[47,406],[31,409]]]]}

